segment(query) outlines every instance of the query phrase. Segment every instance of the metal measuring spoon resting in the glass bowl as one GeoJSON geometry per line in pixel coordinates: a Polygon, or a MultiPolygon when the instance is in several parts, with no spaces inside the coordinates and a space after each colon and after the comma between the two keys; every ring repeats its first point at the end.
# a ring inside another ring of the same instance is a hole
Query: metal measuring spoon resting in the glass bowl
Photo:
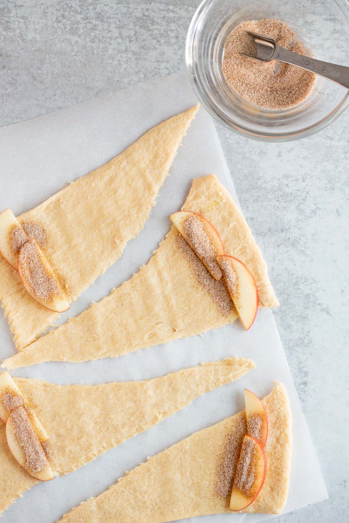
{"type": "Polygon", "coordinates": [[[294,53],[288,51],[288,49],[279,47],[274,38],[258,35],[258,33],[253,31],[247,31],[247,33],[252,36],[257,46],[257,56],[240,53],[243,56],[247,56],[247,58],[252,58],[253,60],[258,60],[260,62],[279,60],[280,62],[297,65],[306,71],[323,76],[324,78],[349,89],[349,67],[308,58],[308,56],[303,56],[302,54],[294,53]]]}

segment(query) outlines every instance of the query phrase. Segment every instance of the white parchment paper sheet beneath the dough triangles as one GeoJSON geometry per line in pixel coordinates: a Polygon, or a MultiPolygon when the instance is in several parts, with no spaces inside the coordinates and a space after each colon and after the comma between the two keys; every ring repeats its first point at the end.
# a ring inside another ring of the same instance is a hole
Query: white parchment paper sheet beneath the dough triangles
{"type": "MultiPolygon", "coordinates": [[[[0,209],[10,207],[20,214],[35,207],[69,181],[110,160],[160,121],[196,103],[183,72],[0,129],[0,209]]],[[[59,323],[81,313],[147,263],[170,229],[168,216],[181,208],[192,179],[210,173],[217,175],[237,201],[215,126],[201,107],[144,229],[129,242],[117,263],[62,314],[59,323]]],[[[270,276],[273,283],[273,275],[270,276]]],[[[0,317],[0,342],[1,359],[15,353],[12,334],[3,317],[0,317]]],[[[64,513],[105,491],[125,471],[147,457],[243,410],[244,387],[262,397],[271,391],[273,380],[285,384],[293,415],[294,450],[285,512],[326,499],[307,423],[270,310],[259,311],[247,333],[236,321],[204,336],[179,339],[115,359],[79,364],[43,363],[12,374],[62,384],[143,380],[201,361],[235,355],[252,358],[257,369],[235,383],[199,397],[192,405],[80,470],[31,488],[5,512],[3,523],[53,523],[61,519],[64,513]]],[[[190,521],[254,523],[269,517],[272,516],[225,514],[190,521]]]]}

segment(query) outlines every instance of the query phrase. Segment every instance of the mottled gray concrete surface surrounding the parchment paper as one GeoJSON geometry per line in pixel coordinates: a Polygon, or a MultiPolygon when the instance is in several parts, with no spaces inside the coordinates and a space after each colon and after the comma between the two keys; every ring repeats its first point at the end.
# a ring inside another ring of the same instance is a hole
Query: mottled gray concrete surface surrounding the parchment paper
{"type": "MultiPolygon", "coordinates": [[[[197,4],[0,0],[0,126],[181,70],[197,4]]],[[[274,521],[347,523],[348,113],[286,144],[217,130],[281,304],[276,322],[330,495],[274,521]]]]}

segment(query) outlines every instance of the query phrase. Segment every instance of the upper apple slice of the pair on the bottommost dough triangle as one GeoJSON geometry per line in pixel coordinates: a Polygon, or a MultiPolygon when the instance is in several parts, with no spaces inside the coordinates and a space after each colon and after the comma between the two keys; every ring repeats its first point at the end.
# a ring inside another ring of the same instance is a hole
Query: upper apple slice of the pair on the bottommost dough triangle
{"type": "Polygon", "coordinates": [[[257,439],[262,447],[268,437],[268,417],[264,405],[253,392],[244,389],[247,434],[257,439]]]}

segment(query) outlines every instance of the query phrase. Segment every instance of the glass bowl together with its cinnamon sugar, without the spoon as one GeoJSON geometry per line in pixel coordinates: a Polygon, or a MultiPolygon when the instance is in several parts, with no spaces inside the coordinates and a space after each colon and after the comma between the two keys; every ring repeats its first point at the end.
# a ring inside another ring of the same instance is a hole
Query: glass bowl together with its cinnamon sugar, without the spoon
{"type": "Polygon", "coordinates": [[[253,30],[269,24],[270,36],[277,35],[282,47],[285,43],[300,54],[349,65],[346,0],[204,0],[190,22],[186,65],[211,115],[235,132],[264,141],[303,138],[339,117],[349,105],[344,87],[277,61],[240,61],[234,31],[251,24],[253,30]]]}

